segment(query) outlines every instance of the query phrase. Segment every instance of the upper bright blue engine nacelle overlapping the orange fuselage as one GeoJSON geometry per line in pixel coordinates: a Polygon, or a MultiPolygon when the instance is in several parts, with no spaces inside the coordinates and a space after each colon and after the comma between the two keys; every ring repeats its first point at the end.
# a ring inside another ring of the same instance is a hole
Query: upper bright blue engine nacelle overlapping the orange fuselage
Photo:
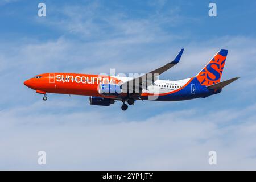
{"type": "Polygon", "coordinates": [[[120,85],[116,84],[99,84],[98,93],[106,96],[118,96],[122,93],[120,85]]]}

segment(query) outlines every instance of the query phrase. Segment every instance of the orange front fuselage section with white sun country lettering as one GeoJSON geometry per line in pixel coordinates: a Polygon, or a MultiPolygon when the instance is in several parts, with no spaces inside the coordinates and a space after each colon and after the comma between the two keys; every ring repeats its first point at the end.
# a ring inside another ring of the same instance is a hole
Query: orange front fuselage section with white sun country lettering
{"type": "Polygon", "coordinates": [[[78,73],[43,73],[24,82],[37,93],[59,93],[84,96],[100,96],[99,84],[118,84],[122,81],[111,76],[78,73]]]}

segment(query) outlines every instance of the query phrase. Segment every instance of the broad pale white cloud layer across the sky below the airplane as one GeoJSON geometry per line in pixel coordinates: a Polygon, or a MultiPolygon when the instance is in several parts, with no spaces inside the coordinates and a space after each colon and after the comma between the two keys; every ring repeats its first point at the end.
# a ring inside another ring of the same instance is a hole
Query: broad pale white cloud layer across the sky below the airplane
{"type": "MultiPolygon", "coordinates": [[[[55,103],[50,105],[55,106],[55,103]]],[[[238,113],[236,118],[241,118],[233,125],[221,127],[218,121],[226,118],[221,114],[223,111],[199,114],[200,108],[169,111],[141,120],[123,117],[122,113],[112,117],[113,111],[56,114],[38,106],[23,115],[20,115],[20,109],[1,112],[0,143],[1,148],[5,148],[1,150],[1,168],[256,168],[255,105],[243,112],[234,110],[238,113]],[[209,121],[213,116],[216,122],[209,121]],[[39,150],[47,152],[45,167],[36,163],[39,150]],[[210,150],[217,151],[217,166],[208,164],[210,150]]],[[[63,106],[66,107],[65,103],[59,109],[63,106]]],[[[226,112],[230,113],[229,110],[226,112]]],[[[229,121],[233,120],[229,118],[229,121]]]]}

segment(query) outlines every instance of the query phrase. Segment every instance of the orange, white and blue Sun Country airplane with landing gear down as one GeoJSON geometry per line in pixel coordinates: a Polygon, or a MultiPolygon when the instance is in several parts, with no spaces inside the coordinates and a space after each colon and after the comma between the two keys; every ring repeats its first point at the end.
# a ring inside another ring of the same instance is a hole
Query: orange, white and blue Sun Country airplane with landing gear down
{"type": "Polygon", "coordinates": [[[127,110],[127,104],[133,105],[137,100],[182,101],[206,98],[220,93],[222,88],[239,78],[220,82],[228,55],[228,50],[221,49],[196,76],[177,81],[160,80],[159,75],[179,63],[183,51],[181,49],[170,63],[138,77],[43,73],[24,81],[24,85],[43,94],[44,101],[47,100],[47,93],[75,94],[89,96],[90,105],[110,106],[116,101],[122,101],[121,109],[127,110]]]}

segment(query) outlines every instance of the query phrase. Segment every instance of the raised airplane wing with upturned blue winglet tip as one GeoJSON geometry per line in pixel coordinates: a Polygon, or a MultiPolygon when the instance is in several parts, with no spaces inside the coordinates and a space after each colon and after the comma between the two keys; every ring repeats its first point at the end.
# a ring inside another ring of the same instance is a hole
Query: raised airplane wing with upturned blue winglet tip
{"type": "Polygon", "coordinates": [[[144,86],[144,88],[147,88],[148,85],[152,85],[152,84],[154,84],[154,82],[156,80],[158,80],[159,75],[161,75],[163,72],[167,71],[168,69],[170,69],[177,63],[179,63],[180,57],[181,57],[183,51],[184,51],[184,48],[180,50],[180,52],[175,57],[175,59],[173,61],[171,61],[170,63],[167,63],[166,65],[163,65],[162,67],[157,68],[151,72],[148,72],[142,76],[134,78],[133,80],[124,82],[123,84],[121,84],[121,86],[123,88],[129,88],[129,92],[133,92],[134,89],[142,89],[143,86],[144,86]],[[151,84],[148,84],[148,83],[151,83],[151,84]],[[133,85],[133,86],[131,86],[131,88],[130,88],[129,85],[133,85]]]}

